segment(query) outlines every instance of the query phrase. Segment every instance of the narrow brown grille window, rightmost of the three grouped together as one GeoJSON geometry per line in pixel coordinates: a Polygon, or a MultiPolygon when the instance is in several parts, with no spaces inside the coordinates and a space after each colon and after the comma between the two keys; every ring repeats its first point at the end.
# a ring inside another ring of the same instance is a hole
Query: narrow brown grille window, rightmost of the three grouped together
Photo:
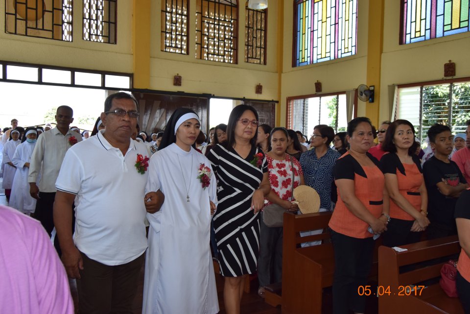
{"type": "Polygon", "coordinates": [[[245,62],[266,64],[266,14],[245,7],[245,62]]]}

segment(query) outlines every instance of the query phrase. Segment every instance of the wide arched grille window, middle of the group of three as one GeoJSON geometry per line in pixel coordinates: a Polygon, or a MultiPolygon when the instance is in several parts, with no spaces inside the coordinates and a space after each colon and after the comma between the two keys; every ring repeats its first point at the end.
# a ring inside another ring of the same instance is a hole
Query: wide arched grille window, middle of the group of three
{"type": "Polygon", "coordinates": [[[236,63],[237,1],[196,1],[196,58],[236,63]]]}

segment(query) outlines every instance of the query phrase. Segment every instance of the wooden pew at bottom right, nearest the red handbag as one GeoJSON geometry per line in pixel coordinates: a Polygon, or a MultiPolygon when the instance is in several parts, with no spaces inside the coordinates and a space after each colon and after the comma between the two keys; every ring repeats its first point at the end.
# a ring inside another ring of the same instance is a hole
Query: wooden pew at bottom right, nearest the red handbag
{"type": "Polygon", "coordinates": [[[459,253],[460,245],[457,236],[401,247],[406,248],[407,251],[397,252],[385,246],[378,249],[378,289],[372,291],[372,293],[382,294],[378,299],[378,313],[464,314],[459,299],[448,297],[439,283],[426,286],[422,290],[404,288],[408,285],[419,286],[422,285],[422,281],[440,277],[441,267],[446,262],[408,266],[414,269],[400,273],[400,266],[445,258],[459,253]]]}

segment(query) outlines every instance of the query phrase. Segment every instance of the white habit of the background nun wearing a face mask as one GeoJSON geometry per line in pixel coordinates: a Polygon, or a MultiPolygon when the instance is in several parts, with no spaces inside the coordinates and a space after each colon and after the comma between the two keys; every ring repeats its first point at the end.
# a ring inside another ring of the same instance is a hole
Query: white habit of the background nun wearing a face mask
{"type": "MultiPolygon", "coordinates": [[[[28,173],[29,168],[25,163],[31,161],[31,154],[36,143],[23,142],[16,148],[11,162],[16,166],[9,206],[16,208],[24,214],[34,213],[36,199],[29,194],[28,173]]],[[[39,178],[36,183],[39,183],[39,178]]]]}

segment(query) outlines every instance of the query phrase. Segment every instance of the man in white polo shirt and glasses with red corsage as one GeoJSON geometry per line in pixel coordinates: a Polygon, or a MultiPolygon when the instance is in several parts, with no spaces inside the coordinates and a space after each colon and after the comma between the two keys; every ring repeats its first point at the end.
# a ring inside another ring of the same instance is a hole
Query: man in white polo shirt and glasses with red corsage
{"type": "Polygon", "coordinates": [[[81,314],[132,312],[147,248],[146,210],[159,208],[157,196],[144,192],[147,150],[131,139],[139,116],[136,99],[113,94],[104,111],[106,129],[69,149],[56,182],[54,222],[64,266],[77,278],[81,314]]]}

